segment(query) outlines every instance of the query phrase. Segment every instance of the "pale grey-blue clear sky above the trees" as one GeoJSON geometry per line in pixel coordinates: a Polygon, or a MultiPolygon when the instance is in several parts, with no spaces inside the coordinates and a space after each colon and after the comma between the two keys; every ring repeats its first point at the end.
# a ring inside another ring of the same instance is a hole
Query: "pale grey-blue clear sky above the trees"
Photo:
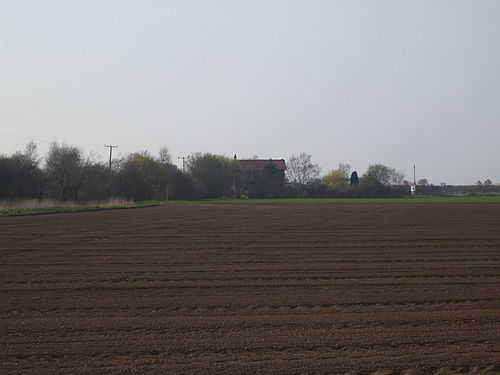
{"type": "Polygon", "coordinates": [[[0,0],[0,154],[169,148],[500,183],[498,0],[0,0]]]}

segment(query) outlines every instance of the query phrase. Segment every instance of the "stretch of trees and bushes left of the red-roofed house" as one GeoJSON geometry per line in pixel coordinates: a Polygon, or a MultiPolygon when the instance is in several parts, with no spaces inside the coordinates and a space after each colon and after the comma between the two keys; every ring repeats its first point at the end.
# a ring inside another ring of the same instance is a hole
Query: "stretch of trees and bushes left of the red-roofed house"
{"type": "Polygon", "coordinates": [[[0,156],[0,199],[49,198],[57,201],[186,200],[233,196],[238,165],[209,153],[192,154],[186,170],[172,163],[168,149],[158,155],[135,152],[96,161],[76,146],[53,142],[44,158],[30,142],[23,152],[0,156]]]}

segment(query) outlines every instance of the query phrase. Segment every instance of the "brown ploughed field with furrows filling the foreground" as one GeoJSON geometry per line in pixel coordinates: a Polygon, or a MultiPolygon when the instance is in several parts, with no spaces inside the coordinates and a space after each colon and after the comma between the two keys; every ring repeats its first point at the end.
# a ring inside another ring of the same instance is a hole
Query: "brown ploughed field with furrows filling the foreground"
{"type": "Polygon", "coordinates": [[[500,373],[500,204],[2,217],[0,261],[1,374],[500,373]]]}

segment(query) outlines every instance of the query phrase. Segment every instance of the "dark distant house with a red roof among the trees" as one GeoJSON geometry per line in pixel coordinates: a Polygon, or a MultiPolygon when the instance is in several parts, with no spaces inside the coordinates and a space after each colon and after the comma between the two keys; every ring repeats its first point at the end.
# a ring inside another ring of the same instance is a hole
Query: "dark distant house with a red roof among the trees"
{"type": "Polygon", "coordinates": [[[242,167],[243,172],[242,182],[239,189],[240,197],[277,198],[283,195],[285,189],[285,160],[236,160],[242,167]]]}

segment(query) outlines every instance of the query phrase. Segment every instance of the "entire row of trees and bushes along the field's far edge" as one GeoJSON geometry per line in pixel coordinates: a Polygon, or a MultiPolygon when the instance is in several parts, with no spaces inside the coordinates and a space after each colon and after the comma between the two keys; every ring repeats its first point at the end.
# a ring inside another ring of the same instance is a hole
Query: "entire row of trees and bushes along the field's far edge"
{"type": "MultiPolygon", "coordinates": [[[[311,155],[292,155],[286,179],[272,161],[246,173],[234,158],[193,153],[185,169],[172,163],[166,147],[115,158],[111,165],[96,161],[76,146],[53,142],[44,158],[30,142],[22,152],[0,156],[0,199],[50,198],[57,201],[98,202],[112,197],[127,200],[188,200],[275,197],[397,197],[410,194],[404,173],[372,164],[358,176],[349,164],[320,175],[311,155]]],[[[422,191],[435,192],[425,179],[422,191]]],[[[493,187],[489,180],[481,189],[493,187]]]]}

